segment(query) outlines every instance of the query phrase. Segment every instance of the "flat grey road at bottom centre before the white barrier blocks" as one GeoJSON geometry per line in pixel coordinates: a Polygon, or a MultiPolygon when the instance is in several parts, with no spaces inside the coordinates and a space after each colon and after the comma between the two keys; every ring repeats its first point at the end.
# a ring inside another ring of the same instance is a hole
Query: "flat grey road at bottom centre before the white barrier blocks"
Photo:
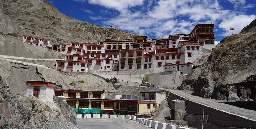
{"type": "Polygon", "coordinates": [[[132,120],[110,118],[77,118],[76,125],[81,129],[151,129],[132,120]]]}

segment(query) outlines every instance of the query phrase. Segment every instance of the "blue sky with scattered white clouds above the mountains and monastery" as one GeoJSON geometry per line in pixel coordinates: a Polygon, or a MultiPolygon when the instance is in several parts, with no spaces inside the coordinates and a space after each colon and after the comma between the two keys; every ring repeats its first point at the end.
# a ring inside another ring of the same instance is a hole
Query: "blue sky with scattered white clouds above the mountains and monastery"
{"type": "Polygon", "coordinates": [[[47,0],[63,14],[151,38],[215,24],[216,43],[256,17],[256,0],[47,0]]]}

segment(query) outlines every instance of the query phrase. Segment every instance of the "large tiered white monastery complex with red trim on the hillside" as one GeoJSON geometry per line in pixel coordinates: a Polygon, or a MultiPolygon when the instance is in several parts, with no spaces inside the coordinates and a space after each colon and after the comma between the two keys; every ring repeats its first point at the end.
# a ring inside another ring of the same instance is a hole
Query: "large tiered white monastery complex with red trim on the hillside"
{"type": "Polygon", "coordinates": [[[215,46],[213,28],[213,24],[197,24],[190,34],[176,33],[152,41],[147,36],[135,36],[133,39],[106,39],[97,43],[60,44],[58,51],[66,58],[65,61],[58,60],[56,68],[77,72],[117,71],[117,74],[139,71],[188,74],[193,62],[201,57],[202,48],[215,46]]]}

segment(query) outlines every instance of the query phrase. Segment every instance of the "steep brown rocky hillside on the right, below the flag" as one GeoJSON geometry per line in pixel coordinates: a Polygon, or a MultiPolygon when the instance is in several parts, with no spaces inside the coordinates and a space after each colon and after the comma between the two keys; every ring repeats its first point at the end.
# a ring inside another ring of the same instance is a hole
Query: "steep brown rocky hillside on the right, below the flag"
{"type": "Polygon", "coordinates": [[[235,35],[224,38],[202,68],[194,69],[179,90],[204,98],[225,99],[226,84],[256,80],[256,19],[235,35]],[[200,70],[201,69],[201,70],[200,70]]]}

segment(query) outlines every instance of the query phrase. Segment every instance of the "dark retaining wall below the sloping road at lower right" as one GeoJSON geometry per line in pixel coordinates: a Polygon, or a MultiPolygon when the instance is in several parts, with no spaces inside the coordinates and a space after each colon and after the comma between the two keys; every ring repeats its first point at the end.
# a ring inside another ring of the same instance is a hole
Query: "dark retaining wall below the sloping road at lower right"
{"type": "MultiPolygon", "coordinates": [[[[185,99],[177,94],[171,93],[168,97],[168,104],[171,100],[185,99]]],[[[188,121],[189,127],[201,128],[203,105],[185,100],[185,114],[183,120],[188,121]]],[[[204,107],[204,129],[234,129],[234,128],[256,128],[256,122],[216,108],[204,107]],[[251,127],[249,127],[251,126],[251,127]]]]}

